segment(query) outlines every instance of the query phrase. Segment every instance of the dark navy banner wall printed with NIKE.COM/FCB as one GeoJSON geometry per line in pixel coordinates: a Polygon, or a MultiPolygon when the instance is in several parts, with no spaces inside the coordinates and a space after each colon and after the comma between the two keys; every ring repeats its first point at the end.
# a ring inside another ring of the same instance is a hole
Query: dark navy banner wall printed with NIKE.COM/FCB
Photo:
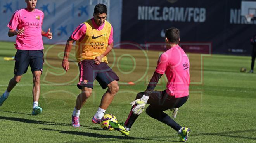
{"type": "Polygon", "coordinates": [[[240,0],[125,0],[121,41],[164,42],[164,30],[176,27],[181,42],[209,42],[213,53],[249,55],[256,20],[247,22],[240,9],[240,0]]]}

